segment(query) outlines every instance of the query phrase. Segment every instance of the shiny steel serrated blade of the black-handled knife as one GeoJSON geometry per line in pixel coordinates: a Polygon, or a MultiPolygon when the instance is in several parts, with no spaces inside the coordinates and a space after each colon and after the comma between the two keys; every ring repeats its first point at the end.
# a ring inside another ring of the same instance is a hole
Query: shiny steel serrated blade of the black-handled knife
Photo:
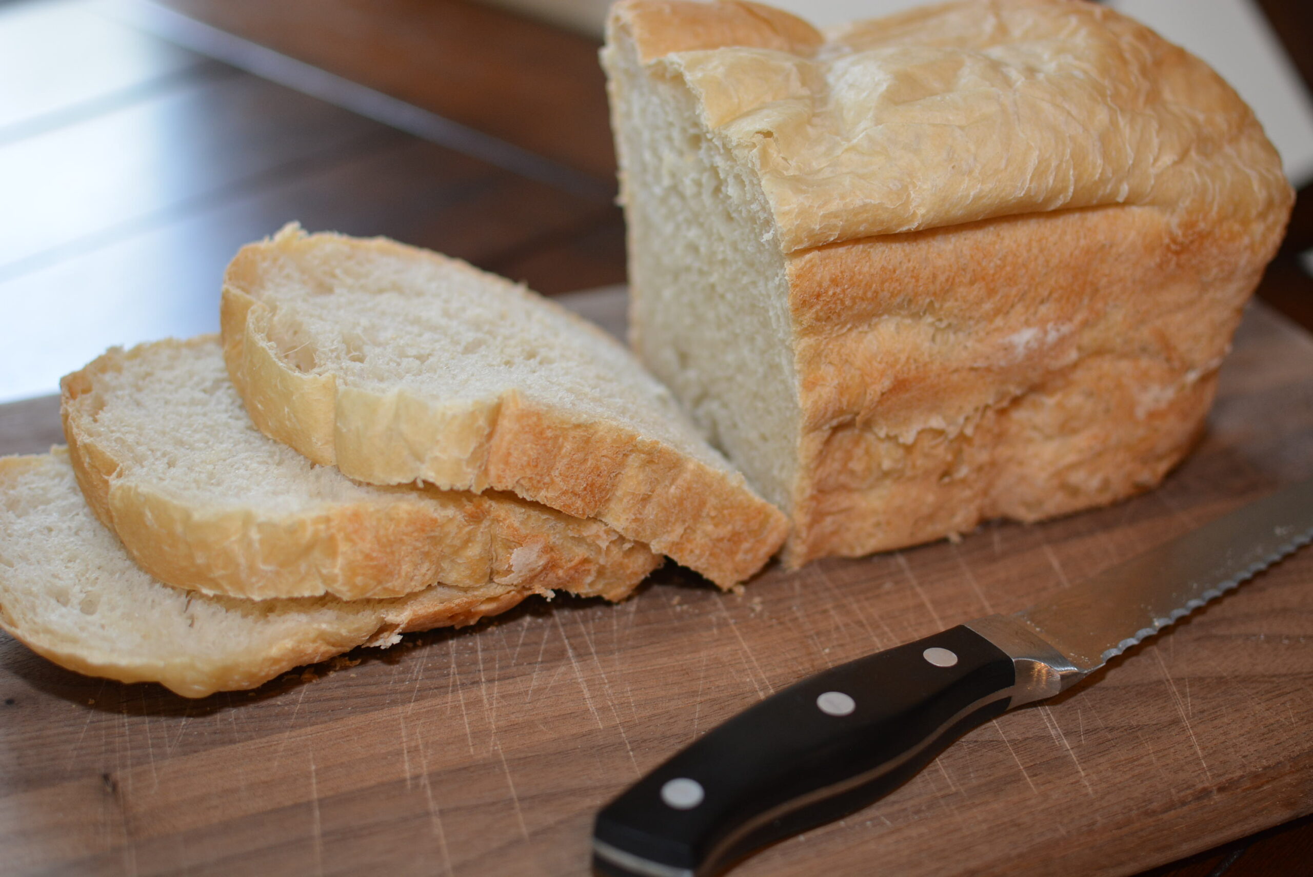
{"type": "Polygon", "coordinates": [[[1313,479],[1018,612],[1083,674],[1313,541],[1313,479]]]}

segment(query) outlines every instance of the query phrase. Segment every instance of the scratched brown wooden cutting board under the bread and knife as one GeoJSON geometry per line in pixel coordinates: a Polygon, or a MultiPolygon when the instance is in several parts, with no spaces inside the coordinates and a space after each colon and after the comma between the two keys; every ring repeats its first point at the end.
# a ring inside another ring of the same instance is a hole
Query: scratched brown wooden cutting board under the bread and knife
{"type": "MultiPolygon", "coordinates": [[[[576,299],[622,314],[617,293],[576,299]]],[[[0,408],[0,452],[58,437],[0,408]]],[[[666,568],[188,701],[0,639],[0,870],[584,874],[593,811],[806,674],[1012,612],[1313,473],[1313,339],[1255,306],[1211,431],[1157,491],[742,595],[666,568]]],[[[902,789],[735,874],[1125,874],[1313,811],[1313,550],[902,789]]]]}

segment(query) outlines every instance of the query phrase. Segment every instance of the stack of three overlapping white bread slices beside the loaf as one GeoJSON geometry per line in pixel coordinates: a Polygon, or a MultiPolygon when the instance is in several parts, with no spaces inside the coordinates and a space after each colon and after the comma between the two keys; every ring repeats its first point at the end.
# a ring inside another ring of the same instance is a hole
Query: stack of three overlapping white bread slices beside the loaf
{"type": "Polygon", "coordinates": [[[67,375],[67,448],[0,460],[0,624],[59,664],[202,697],[785,537],[624,345],[465,263],[289,226],[222,327],[67,375]]]}

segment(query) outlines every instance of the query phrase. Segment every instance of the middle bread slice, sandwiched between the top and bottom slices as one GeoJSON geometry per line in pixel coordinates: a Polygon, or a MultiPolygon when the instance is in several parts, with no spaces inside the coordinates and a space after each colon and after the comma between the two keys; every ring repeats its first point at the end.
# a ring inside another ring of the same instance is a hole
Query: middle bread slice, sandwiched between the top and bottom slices
{"type": "Polygon", "coordinates": [[[626,596],[663,558],[511,494],[357,484],[251,424],[215,336],[109,351],[63,379],[74,471],[172,586],[263,600],[393,597],[441,582],[626,596]]]}

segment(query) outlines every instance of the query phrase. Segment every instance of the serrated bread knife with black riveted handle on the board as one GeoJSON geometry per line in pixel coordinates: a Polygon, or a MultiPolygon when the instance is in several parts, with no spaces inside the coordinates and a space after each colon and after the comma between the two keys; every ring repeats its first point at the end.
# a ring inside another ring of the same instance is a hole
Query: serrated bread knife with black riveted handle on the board
{"type": "Polygon", "coordinates": [[[593,869],[709,877],[859,810],[953,740],[1052,697],[1313,540],[1313,479],[1014,614],[826,670],[713,729],[608,803],[593,869]]]}

